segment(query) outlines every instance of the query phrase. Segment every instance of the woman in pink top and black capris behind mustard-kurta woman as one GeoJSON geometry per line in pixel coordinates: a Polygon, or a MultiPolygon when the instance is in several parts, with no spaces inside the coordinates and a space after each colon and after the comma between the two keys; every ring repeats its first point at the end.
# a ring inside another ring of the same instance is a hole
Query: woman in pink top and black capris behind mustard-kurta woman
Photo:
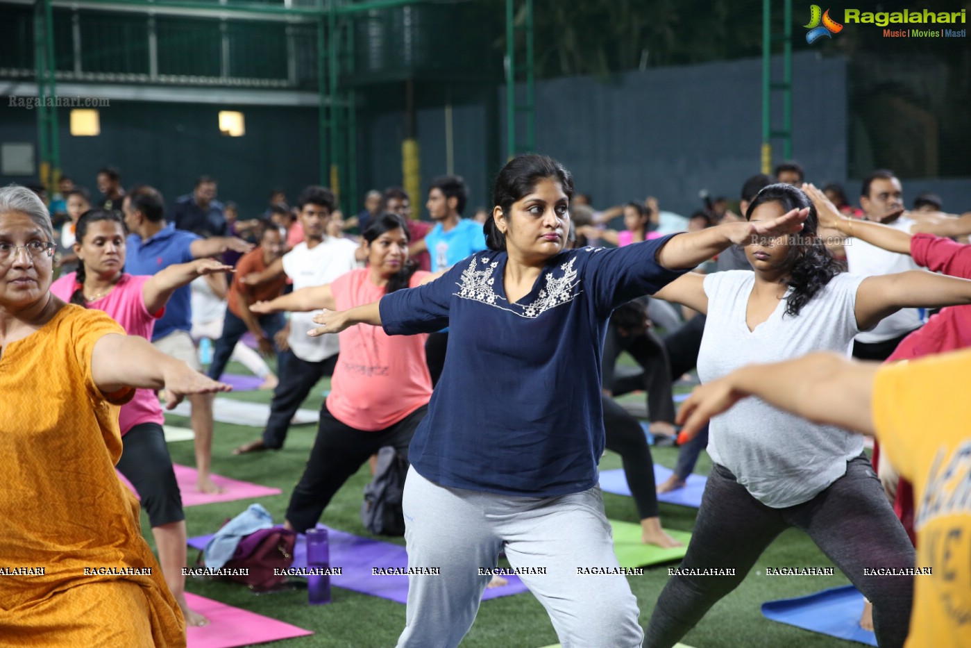
{"type": "MultiPolygon", "coordinates": [[[[78,271],[64,275],[50,291],[64,301],[96,308],[110,315],[129,335],[151,340],[155,320],[162,316],[172,293],[196,277],[232,270],[216,260],[201,258],[170,265],[153,277],[135,277],[123,271],[125,232],[117,212],[90,210],[78,220],[74,252],[78,271]]],[[[185,604],[185,515],[182,495],[172,468],[162,408],[150,390],[138,390],[121,406],[118,426],[123,450],[117,469],[132,483],[149,514],[158,563],[165,582],[179,601],[187,626],[208,621],[185,604]]]]}

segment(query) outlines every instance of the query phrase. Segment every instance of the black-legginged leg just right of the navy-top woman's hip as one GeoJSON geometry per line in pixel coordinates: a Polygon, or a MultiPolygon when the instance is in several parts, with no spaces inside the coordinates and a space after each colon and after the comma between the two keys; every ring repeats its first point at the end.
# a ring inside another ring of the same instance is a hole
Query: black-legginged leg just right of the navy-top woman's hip
{"type": "Polygon", "coordinates": [[[639,519],[657,517],[654,461],[644,428],[610,396],[602,396],[607,449],[620,455],[627,488],[634,496],[639,519]]]}

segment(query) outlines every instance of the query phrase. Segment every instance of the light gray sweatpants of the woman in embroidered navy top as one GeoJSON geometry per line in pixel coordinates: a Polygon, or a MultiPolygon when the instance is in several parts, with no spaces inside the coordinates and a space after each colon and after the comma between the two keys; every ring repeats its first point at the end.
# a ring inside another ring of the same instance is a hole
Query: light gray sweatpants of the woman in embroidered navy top
{"type": "Polygon", "coordinates": [[[514,497],[434,484],[411,468],[404,493],[411,575],[405,631],[398,648],[452,648],[472,627],[505,551],[543,603],[563,648],[634,648],[644,632],[637,598],[622,574],[581,574],[578,567],[618,567],[600,488],[559,497],[514,497]]]}

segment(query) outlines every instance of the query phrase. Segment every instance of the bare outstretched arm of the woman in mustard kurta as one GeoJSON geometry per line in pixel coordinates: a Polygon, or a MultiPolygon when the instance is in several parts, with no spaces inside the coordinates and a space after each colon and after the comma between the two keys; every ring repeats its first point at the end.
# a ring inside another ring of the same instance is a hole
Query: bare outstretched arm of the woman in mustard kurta
{"type": "Polygon", "coordinates": [[[188,394],[232,390],[230,386],[190,368],[184,361],[166,356],[144,337],[117,333],[104,335],[94,344],[91,377],[103,393],[118,392],[126,387],[164,389],[169,409],[188,394]]]}

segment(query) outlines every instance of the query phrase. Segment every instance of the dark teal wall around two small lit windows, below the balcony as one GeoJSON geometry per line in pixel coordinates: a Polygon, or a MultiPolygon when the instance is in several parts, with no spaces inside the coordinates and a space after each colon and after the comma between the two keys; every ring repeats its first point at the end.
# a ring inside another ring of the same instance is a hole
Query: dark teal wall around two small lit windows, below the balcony
{"type": "MultiPolygon", "coordinates": [[[[0,103],[0,142],[36,143],[35,112],[0,103]]],[[[62,172],[94,193],[97,170],[106,164],[120,169],[125,187],[151,184],[170,206],[198,176],[212,175],[219,199],[239,203],[248,216],[262,213],[271,188],[285,188],[292,200],[319,181],[316,109],[113,100],[100,109],[97,137],[72,137],[68,113],[58,116],[62,172]],[[246,135],[221,135],[220,110],[242,112],[246,135]]],[[[4,184],[29,180],[0,176],[4,184]]]]}

